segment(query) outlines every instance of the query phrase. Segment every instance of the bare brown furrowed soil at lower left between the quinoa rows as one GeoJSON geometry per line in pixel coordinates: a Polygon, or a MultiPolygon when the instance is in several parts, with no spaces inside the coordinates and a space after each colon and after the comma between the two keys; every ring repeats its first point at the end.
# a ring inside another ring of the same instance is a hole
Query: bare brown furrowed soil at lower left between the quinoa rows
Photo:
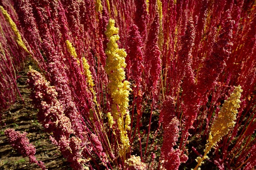
{"type": "MultiPolygon", "coordinates": [[[[27,65],[26,65],[27,66],[27,65]]],[[[25,67],[28,68],[28,67],[25,67]]],[[[23,158],[20,153],[9,145],[4,130],[14,128],[20,133],[28,133],[26,136],[36,147],[35,157],[43,161],[48,170],[72,170],[69,163],[61,156],[58,148],[49,140],[49,134],[37,122],[38,110],[29,99],[30,91],[26,85],[26,72],[21,71],[17,79],[17,86],[24,100],[17,96],[17,101],[2,113],[0,122],[0,170],[41,170],[37,164],[30,164],[28,158],[23,158]]]]}

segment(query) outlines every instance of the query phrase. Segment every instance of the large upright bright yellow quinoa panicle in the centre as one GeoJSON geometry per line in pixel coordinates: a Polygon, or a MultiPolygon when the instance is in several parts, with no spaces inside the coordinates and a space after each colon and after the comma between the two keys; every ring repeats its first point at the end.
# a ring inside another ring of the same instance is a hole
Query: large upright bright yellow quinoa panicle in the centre
{"type": "MultiPolygon", "coordinates": [[[[116,41],[119,40],[119,29],[115,27],[115,21],[109,20],[107,30],[105,31],[108,37],[108,44],[105,53],[107,54],[105,71],[109,77],[108,90],[113,99],[111,105],[112,118],[117,123],[117,128],[120,131],[120,155],[125,160],[125,154],[130,147],[130,142],[127,134],[127,130],[130,130],[131,118],[128,112],[129,106],[129,91],[131,90],[129,82],[125,80],[126,67],[125,57],[126,52],[124,49],[119,49],[116,41]],[[118,108],[117,108],[118,107],[118,108]]],[[[112,124],[112,118],[110,114],[107,114],[110,126],[112,124]]]]}

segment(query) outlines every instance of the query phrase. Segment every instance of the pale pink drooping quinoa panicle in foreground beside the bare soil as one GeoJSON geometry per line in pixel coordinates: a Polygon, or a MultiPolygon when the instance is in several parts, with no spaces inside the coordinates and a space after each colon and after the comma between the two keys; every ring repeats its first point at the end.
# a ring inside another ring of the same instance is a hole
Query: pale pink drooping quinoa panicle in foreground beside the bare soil
{"type": "Polygon", "coordinates": [[[69,138],[74,131],[70,119],[65,116],[65,110],[57,99],[58,93],[38,71],[31,69],[28,72],[28,77],[27,83],[33,91],[31,98],[36,108],[39,109],[39,122],[48,132],[53,133],[54,139],[52,138],[52,141],[58,145],[61,153],[72,163],[71,166],[82,170],[82,165],[78,161],[81,158],[79,150],[82,142],[78,137],[69,138]]]}

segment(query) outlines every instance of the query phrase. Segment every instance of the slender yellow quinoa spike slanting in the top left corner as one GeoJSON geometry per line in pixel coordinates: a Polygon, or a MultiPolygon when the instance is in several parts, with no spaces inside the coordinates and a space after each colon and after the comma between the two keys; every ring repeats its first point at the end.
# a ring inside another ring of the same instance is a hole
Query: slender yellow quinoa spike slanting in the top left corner
{"type": "Polygon", "coordinates": [[[16,24],[13,22],[12,18],[8,14],[8,12],[3,8],[3,6],[0,6],[0,10],[2,11],[2,14],[5,17],[6,21],[10,24],[12,31],[16,35],[16,41],[17,41],[18,45],[20,45],[20,47],[22,47],[28,54],[30,54],[29,50],[26,48],[26,45],[21,38],[20,32],[17,29],[16,24]]]}

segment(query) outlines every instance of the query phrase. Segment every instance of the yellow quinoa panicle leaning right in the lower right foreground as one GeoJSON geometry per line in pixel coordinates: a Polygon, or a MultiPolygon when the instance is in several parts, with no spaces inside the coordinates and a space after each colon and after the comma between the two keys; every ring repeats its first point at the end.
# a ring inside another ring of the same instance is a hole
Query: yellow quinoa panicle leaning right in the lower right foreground
{"type": "Polygon", "coordinates": [[[207,140],[206,149],[204,150],[204,156],[198,157],[196,160],[198,164],[194,168],[194,170],[198,170],[199,166],[203,163],[204,159],[207,159],[207,153],[214,147],[217,142],[219,142],[223,136],[227,135],[230,128],[234,127],[236,124],[236,114],[237,109],[240,107],[239,103],[241,92],[241,86],[235,87],[233,93],[230,97],[224,101],[224,104],[221,108],[220,113],[218,114],[217,119],[213,122],[211,131],[209,133],[209,139],[207,140]]]}

